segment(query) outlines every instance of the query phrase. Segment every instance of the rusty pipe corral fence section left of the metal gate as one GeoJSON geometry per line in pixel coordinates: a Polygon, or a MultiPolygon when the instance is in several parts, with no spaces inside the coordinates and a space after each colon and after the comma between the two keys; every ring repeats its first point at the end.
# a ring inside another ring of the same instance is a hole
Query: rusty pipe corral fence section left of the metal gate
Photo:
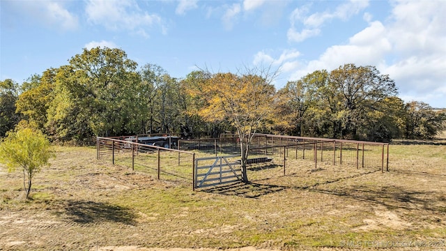
{"type": "Polygon", "coordinates": [[[134,137],[97,137],[97,158],[164,181],[192,183],[195,153],[134,142],[134,137]]]}

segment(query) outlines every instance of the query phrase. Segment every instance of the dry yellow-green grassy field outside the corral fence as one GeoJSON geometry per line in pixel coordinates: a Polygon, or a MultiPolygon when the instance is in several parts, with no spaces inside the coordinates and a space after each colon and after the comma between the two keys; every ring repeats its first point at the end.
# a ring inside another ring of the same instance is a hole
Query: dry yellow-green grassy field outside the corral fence
{"type": "Polygon", "coordinates": [[[56,146],[32,200],[0,166],[0,250],[446,250],[445,138],[392,144],[390,172],[303,168],[195,192],[56,146]]]}

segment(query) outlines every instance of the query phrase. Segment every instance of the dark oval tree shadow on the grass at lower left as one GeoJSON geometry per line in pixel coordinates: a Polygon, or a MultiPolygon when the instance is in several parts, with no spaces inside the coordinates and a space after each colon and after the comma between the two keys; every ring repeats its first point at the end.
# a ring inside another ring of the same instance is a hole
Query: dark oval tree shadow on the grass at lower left
{"type": "Polygon", "coordinates": [[[137,215],[129,208],[96,201],[69,200],[65,205],[66,214],[73,222],[81,224],[99,222],[121,222],[134,225],[137,215]]]}

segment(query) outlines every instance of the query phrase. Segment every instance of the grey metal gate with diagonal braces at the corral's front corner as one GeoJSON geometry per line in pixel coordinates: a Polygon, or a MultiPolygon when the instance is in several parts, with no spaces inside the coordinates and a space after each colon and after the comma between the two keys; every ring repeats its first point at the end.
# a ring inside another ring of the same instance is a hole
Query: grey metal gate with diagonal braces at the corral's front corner
{"type": "Polygon", "coordinates": [[[242,169],[236,158],[240,155],[195,159],[194,189],[242,180],[242,169]]]}

